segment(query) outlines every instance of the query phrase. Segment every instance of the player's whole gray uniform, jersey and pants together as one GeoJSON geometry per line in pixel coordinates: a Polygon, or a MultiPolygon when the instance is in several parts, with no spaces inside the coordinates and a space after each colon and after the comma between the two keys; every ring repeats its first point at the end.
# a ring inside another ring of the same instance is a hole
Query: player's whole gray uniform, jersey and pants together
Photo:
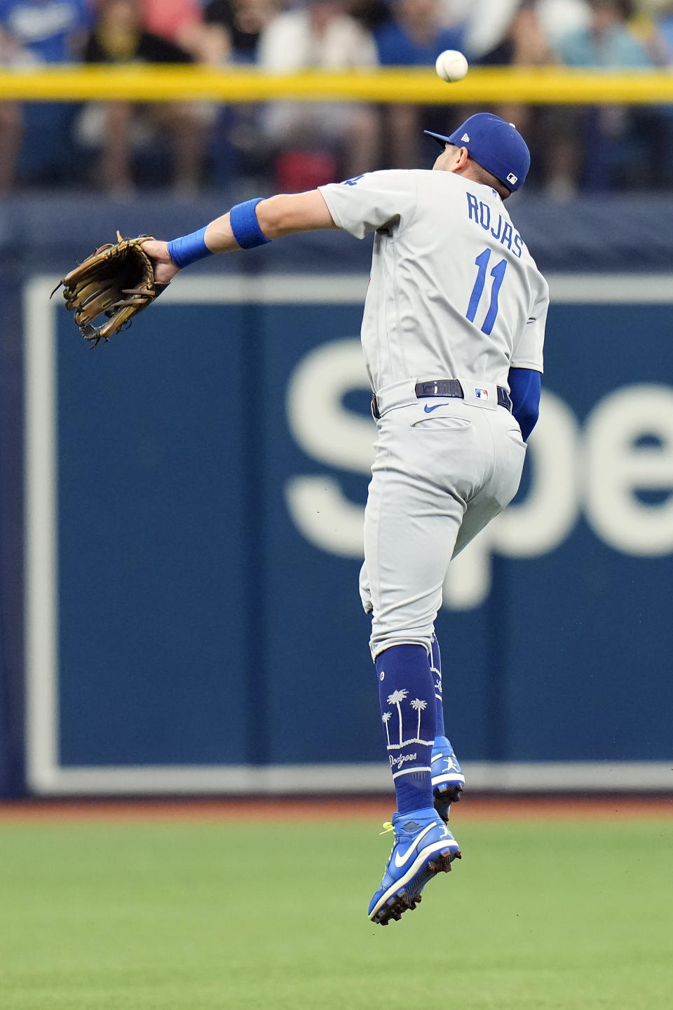
{"type": "Polygon", "coordinates": [[[519,487],[526,445],[494,386],[512,367],[542,372],[548,287],[489,186],[413,170],[320,190],[338,227],[375,232],[362,321],[380,410],[360,577],[371,654],[403,642],[430,654],[452,556],[519,487]],[[464,399],[417,399],[435,379],[459,379],[464,399]]]}

